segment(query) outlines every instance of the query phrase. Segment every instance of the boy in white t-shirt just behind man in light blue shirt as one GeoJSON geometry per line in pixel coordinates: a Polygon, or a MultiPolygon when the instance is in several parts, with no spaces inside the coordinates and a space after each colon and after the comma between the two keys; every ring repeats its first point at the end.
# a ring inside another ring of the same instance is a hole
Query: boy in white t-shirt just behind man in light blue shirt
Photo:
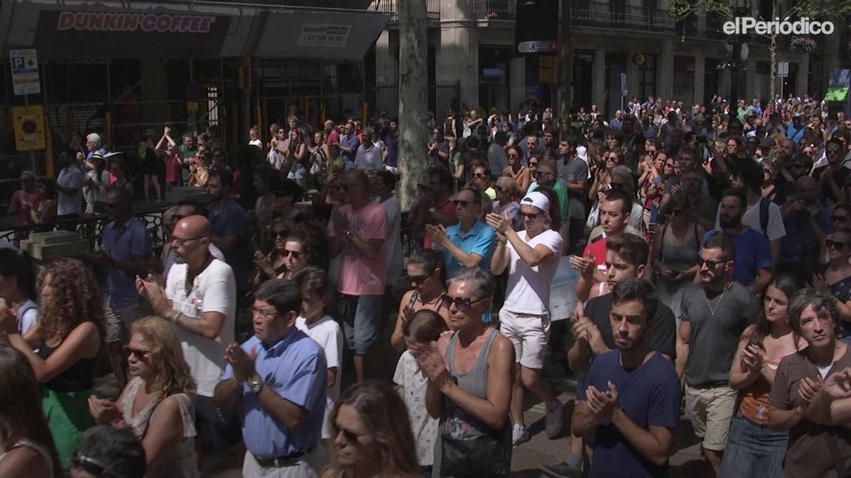
{"type": "MultiPolygon", "coordinates": [[[[328,272],[308,267],[299,273],[296,283],[301,289],[301,310],[295,319],[295,328],[307,334],[325,350],[328,367],[328,395],[326,395],[323,439],[333,439],[328,420],[334,403],[340,398],[340,359],[343,356],[343,330],[334,318],[325,314],[328,306],[328,272]]],[[[326,445],[329,445],[328,443],[326,445]]],[[[325,450],[328,452],[328,450],[325,450]]]]}

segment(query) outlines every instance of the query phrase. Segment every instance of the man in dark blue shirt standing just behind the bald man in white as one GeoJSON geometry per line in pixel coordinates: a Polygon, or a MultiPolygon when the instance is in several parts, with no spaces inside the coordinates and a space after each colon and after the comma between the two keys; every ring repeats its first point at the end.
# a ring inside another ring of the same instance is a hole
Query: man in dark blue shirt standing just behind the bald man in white
{"type": "Polygon", "coordinates": [[[225,169],[210,171],[207,195],[210,198],[208,219],[213,227],[213,244],[225,253],[225,262],[237,278],[237,298],[248,292],[251,250],[246,234],[248,216],[245,209],[231,200],[233,175],[225,169]]]}

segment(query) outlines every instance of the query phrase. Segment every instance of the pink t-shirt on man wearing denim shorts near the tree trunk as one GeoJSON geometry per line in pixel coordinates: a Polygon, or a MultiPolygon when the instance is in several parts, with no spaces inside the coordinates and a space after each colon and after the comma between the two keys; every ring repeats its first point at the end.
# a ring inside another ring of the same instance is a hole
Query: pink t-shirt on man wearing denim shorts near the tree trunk
{"type": "MultiPolygon", "coordinates": [[[[370,202],[359,210],[351,204],[340,208],[340,213],[349,219],[349,228],[364,240],[387,238],[387,211],[380,204],[370,202]]],[[[332,232],[334,234],[334,232],[332,232]]],[[[384,295],[387,276],[385,246],[375,259],[367,259],[357,246],[345,236],[340,238],[340,285],[337,289],[347,295],[384,295]]]]}

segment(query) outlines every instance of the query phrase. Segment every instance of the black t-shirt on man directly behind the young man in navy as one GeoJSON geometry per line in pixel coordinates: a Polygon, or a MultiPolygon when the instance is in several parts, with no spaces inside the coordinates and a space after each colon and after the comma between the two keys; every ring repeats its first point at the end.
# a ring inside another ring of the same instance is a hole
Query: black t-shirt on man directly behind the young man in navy
{"type": "MultiPolygon", "coordinates": [[[[614,334],[612,322],[608,314],[612,311],[612,294],[595,297],[585,304],[585,316],[594,322],[603,336],[603,342],[609,349],[614,350],[614,334]]],[[[671,359],[677,356],[677,322],[671,308],[659,302],[653,317],[653,328],[650,329],[648,343],[653,350],[661,352],[671,359]]]]}

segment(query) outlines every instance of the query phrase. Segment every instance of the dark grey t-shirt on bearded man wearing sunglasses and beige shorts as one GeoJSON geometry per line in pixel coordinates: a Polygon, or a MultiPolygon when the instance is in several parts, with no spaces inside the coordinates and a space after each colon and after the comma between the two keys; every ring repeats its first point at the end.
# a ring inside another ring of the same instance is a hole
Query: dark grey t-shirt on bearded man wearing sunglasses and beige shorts
{"type": "Polygon", "coordinates": [[[757,320],[759,301],[739,282],[733,282],[723,296],[707,295],[700,283],[692,283],[683,287],[680,308],[680,320],[692,327],[686,383],[692,387],[727,384],[739,338],[757,320]]]}

